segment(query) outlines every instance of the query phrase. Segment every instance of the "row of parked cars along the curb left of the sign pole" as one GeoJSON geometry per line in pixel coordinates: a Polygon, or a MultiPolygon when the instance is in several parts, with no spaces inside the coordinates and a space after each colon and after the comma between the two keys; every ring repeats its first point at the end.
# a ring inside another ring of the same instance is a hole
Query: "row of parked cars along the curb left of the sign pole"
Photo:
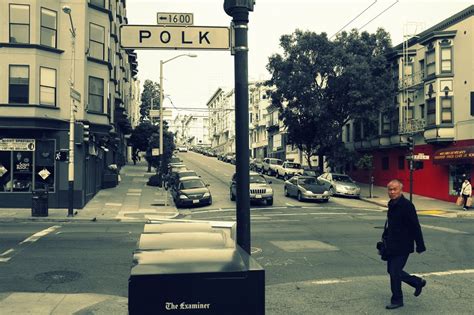
{"type": "Polygon", "coordinates": [[[173,156],[170,160],[165,188],[171,192],[177,208],[212,204],[209,184],[206,184],[195,171],[187,169],[177,156],[173,156]]]}

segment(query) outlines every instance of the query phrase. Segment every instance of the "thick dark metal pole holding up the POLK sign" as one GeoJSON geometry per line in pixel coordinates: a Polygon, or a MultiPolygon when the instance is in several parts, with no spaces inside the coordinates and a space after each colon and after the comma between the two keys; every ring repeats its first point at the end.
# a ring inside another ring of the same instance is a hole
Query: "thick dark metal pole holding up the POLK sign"
{"type": "Polygon", "coordinates": [[[237,169],[237,244],[249,255],[250,179],[249,179],[249,88],[248,22],[254,0],[224,0],[224,10],[232,17],[234,32],[235,137],[237,169]]]}

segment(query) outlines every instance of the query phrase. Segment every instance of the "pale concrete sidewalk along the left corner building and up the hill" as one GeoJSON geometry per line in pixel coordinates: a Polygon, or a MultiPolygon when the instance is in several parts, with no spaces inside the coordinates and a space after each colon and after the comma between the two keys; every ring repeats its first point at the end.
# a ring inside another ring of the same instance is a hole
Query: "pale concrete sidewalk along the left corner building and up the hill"
{"type": "Polygon", "coordinates": [[[169,193],[158,187],[147,186],[153,175],[147,173],[146,162],[129,164],[120,170],[121,182],[113,188],[100,190],[83,209],[74,209],[68,217],[68,209],[49,209],[47,217],[32,217],[31,209],[0,208],[0,221],[127,221],[145,222],[147,215],[162,218],[176,217],[177,211],[169,193]]]}

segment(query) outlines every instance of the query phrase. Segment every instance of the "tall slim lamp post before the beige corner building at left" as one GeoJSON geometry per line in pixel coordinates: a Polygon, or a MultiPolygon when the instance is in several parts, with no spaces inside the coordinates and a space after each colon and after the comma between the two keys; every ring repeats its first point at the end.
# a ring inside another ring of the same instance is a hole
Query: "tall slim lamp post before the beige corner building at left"
{"type": "MultiPolygon", "coordinates": [[[[76,29],[71,16],[71,8],[69,6],[63,6],[63,12],[69,15],[69,22],[71,28],[71,77],[69,78],[69,84],[71,90],[74,88],[74,58],[75,58],[75,47],[76,47],[76,29]]],[[[74,99],[71,96],[71,109],[69,115],[69,163],[68,163],[68,211],[67,216],[74,216],[74,99]]]]}

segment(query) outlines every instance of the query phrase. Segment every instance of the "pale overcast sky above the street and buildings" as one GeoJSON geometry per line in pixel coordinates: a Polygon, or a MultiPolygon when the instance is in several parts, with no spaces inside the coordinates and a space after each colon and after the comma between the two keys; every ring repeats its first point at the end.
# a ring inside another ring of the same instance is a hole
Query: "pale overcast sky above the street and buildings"
{"type": "MultiPolygon", "coordinates": [[[[184,12],[193,13],[195,26],[229,26],[232,18],[224,12],[223,4],[224,0],[129,0],[127,17],[130,25],[156,25],[157,12],[184,12]]],[[[472,4],[473,0],[256,0],[248,25],[249,81],[269,78],[268,58],[282,52],[281,35],[296,29],[332,36],[360,14],[344,30],[357,28],[373,33],[382,27],[390,33],[395,46],[404,35],[420,33],[472,4]]],[[[234,87],[234,58],[230,51],[136,52],[142,84],[146,79],[159,82],[159,60],[186,53],[197,55],[180,57],[163,66],[167,96],[164,106],[174,106],[180,113],[205,108],[219,87],[234,87]]]]}

